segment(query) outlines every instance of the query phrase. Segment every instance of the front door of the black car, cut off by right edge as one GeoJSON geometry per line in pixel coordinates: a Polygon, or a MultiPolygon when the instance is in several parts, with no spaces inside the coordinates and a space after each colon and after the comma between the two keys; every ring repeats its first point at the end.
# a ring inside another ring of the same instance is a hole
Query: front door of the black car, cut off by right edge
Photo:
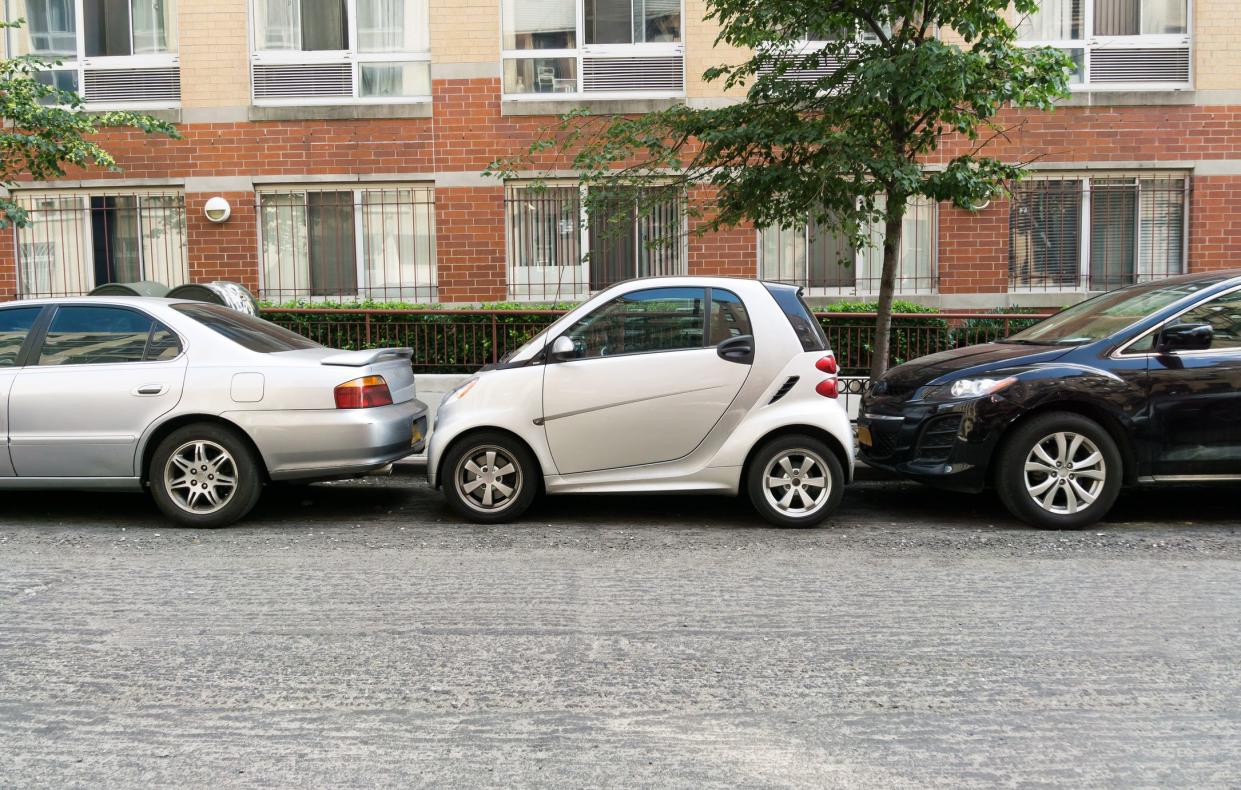
{"type": "Polygon", "coordinates": [[[1210,347],[1150,355],[1152,468],[1157,476],[1241,475],[1241,291],[1173,324],[1207,324],[1210,347]]]}

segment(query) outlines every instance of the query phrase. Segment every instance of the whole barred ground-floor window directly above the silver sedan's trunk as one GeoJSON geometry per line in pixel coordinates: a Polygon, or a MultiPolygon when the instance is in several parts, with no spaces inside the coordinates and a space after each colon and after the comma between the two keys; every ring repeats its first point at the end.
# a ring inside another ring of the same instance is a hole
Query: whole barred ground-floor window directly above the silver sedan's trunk
{"type": "Polygon", "coordinates": [[[259,217],[264,299],[436,298],[431,187],[262,192],[259,217]]]}

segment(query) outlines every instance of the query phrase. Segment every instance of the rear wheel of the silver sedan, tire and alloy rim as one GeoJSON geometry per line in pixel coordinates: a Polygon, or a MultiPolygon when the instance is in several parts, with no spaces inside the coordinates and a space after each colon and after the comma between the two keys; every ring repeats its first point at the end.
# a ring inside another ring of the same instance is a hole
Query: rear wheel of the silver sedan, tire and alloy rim
{"type": "Polygon", "coordinates": [[[226,527],[243,518],[263,492],[263,473],[249,444],[212,423],[177,428],[155,448],[146,477],[155,504],[184,527],[226,527]]]}

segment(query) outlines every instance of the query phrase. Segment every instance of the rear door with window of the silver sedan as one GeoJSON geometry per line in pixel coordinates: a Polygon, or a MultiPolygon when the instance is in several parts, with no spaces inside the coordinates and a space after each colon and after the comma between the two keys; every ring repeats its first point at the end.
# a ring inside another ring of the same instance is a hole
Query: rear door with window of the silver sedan
{"type": "Polygon", "coordinates": [[[181,399],[177,336],[123,306],[63,305],[9,393],[20,477],[133,477],[138,439],[181,399]]]}

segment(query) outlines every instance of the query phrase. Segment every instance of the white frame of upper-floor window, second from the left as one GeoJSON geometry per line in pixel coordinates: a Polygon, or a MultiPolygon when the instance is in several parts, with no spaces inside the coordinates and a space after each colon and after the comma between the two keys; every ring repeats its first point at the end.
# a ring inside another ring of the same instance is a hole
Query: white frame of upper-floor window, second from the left
{"type": "MultiPolygon", "coordinates": [[[[349,64],[352,78],[352,95],[333,97],[290,97],[290,98],[257,98],[253,94],[253,79],[251,79],[251,100],[256,107],[308,107],[315,104],[426,104],[431,102],[431,94],[417,95],[359,95],[361,91],[361,66],[367,63],[401,64],[401,63],[426,63],[431,68],[431,45],[426,50],[406,50],[398,52],[361,52],[357,45],[357,0],[345,1],[345,24],[349,29],[347,50],[262,50],[258,41],[258,12],[256,2],[263,0],[249,0],[249,52],[251,72],[256,66],[319,66],[319,64],[349,64]]],[[[429,26],[429,5],[423,0],[423,24],[429,26]]],[[[429,73],[427,84],[429,86],[429,73]]]]}

